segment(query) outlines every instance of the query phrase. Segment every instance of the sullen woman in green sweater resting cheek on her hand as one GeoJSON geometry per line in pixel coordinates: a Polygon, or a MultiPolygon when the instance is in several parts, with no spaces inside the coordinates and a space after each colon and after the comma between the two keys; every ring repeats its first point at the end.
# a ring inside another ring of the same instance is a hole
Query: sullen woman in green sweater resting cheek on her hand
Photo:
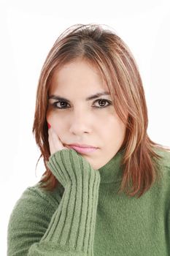
{"type": "Polygon", "coordinates": [[[169,255],[170,154],[147,124],[125,42],[91,24],[61,34],[36,94],[46,171],[12,211],[8,255],[169,255]]]}

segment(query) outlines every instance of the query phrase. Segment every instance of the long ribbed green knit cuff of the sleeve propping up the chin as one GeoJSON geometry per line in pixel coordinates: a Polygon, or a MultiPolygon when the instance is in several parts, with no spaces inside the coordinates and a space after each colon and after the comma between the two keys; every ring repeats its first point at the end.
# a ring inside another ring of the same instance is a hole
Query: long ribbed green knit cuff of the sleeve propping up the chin
{"type": "Polygon", "coordinates": [[[64,192],[47,230],[31,244],[28,255],[92,256],[100,173],[73,149],[57,151],[48,167],[64,192]]]}

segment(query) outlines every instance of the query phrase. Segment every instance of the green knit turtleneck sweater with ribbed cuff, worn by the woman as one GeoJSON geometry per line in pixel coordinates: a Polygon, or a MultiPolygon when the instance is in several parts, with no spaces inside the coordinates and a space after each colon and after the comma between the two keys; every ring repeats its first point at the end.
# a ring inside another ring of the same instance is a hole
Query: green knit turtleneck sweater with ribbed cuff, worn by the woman
{"type": "Polygon", "coordinates": [[[123,154],[98,170],[74,149],[53,154],[48,167],[60,185],[23,192],[9,219],[7,255],[170,255],[170,154],[160,151],[163,178],[138,199],[117,193],[123,154]]]}

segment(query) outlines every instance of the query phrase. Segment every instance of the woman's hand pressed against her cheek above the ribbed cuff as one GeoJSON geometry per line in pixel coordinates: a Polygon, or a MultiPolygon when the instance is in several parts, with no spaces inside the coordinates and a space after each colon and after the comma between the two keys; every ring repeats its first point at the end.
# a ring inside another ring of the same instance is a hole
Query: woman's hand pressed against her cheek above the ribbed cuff
{"type": "Polygon", "coordinates": [[[50,154],[51,155],[59,150],[68,149],[65,146],[63,146],[63,143],[61,142],[58,135],[54,132],[52,127],[50,127],[50,129],[48,129],[48,142],[49,142],[49,146],[50,146],[50,154]]]}

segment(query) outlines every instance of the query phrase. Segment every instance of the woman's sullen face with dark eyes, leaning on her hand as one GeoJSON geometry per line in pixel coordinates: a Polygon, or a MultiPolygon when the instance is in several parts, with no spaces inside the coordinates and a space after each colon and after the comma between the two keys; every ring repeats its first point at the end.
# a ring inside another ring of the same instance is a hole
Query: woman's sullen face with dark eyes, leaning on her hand
{"type": "Polygon", "coordinates": [[[49,91],[47,122],[63,146],[69,148],[69,144],[78,143],[97,147],[96,151],[80,153],[95,170],[115,156],[125,137],[125,124],[115,112],[107,84],[97,69],[83,60],[55,71],[49,91]],[[108,94],[88,99],[104,92],[108,94]]]}

